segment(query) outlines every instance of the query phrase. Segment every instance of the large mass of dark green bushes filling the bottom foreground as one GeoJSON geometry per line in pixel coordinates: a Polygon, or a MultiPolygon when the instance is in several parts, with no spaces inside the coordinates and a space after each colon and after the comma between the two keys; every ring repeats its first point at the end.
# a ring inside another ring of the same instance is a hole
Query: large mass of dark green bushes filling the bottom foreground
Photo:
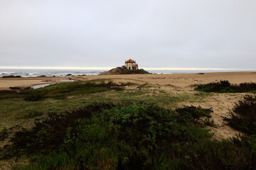
{"type": "Polygon", "coordinates": [[[17,132],[6,153],[33,156],[31,164],[14,169],[254,169],[247,147],[212,141],[196,124],[210,112],[92,104],[17,132]]]}

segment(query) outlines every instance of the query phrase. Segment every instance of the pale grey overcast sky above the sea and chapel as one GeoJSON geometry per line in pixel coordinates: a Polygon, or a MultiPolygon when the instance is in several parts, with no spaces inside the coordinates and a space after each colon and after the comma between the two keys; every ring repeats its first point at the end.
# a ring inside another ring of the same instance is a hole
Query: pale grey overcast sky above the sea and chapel
{"type": "Polygon", "coordinates": [[[0,0],[0,67],[256,69],[255,0],[0,0]]]}

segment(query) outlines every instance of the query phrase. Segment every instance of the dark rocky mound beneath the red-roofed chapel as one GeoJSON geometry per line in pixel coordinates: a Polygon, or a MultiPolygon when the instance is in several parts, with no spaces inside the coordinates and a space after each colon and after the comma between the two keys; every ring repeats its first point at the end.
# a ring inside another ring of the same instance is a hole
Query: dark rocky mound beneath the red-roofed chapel
{"type": "Polygon", "coordinates": [[[114,69],[110,69],[110,71],[102,72],[100,75],[110,75],[110,74],[149,74],[149,72],[146,72],[144,69],[138,69],[138,70],[129,70],[127,67],[117,67],[114,69]]]}

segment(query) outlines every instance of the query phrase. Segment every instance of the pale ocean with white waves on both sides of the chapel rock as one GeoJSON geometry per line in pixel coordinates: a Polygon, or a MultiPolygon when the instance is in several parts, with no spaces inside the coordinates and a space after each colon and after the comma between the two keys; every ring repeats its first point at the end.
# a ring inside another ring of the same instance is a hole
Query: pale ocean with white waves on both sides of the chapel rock
{"type": "MultiPolygon", "coordinates": [[[[65,77],[79,75],[98,75],[107,69],[0,69],[0,77],[21,76],[21,77],[65,77]]],[[[243,70],[148,70],[151,74],[179,74],[179,73],[206,73],[206,72],[242,72],[243,70]]],[[[248,70],[246,70],[248,72],[248,70]]]]}

